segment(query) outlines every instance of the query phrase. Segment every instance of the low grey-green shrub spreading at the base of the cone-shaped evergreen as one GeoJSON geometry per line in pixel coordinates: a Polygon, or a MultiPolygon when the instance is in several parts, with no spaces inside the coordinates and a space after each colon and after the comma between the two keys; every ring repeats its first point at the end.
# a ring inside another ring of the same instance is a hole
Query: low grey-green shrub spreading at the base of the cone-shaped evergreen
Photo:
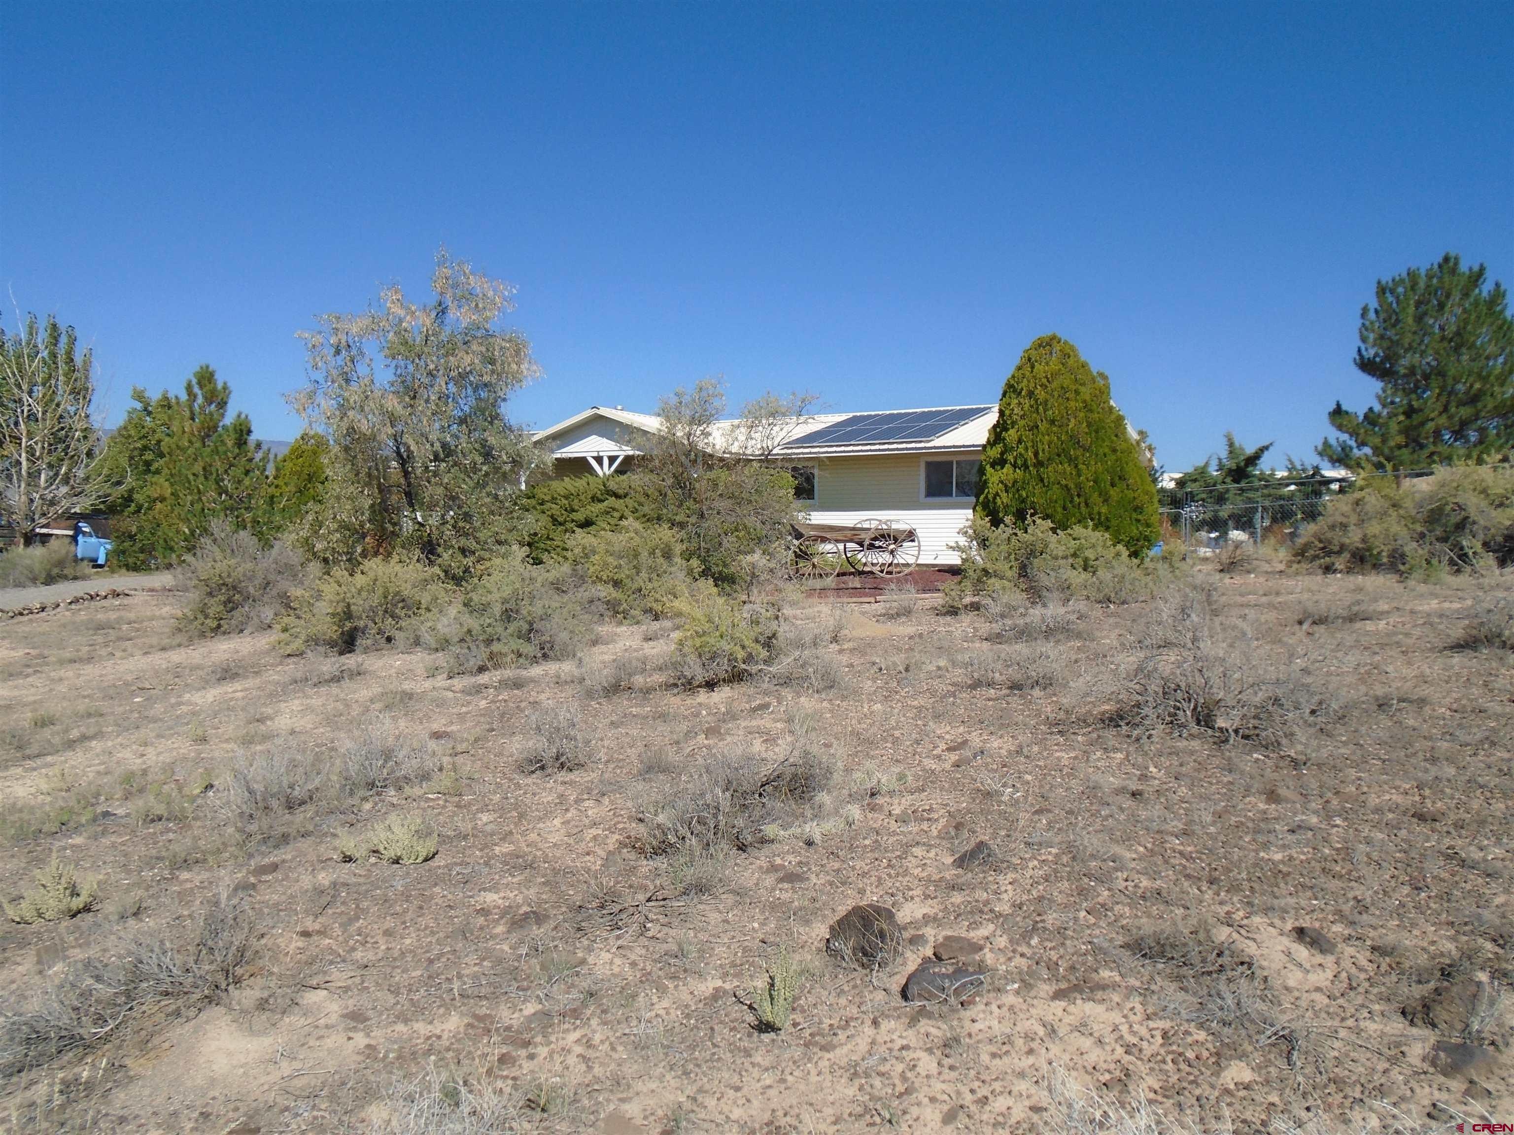
{"type": "Polygon", "coordinates": [[[966,530],[961,577],[948,589],[963,595],[995,596],[1022,592],[1030,598],[1120,604],[1151,598],[1178,571],[1163,563],[1132,560],[1114,540],[1093,528],[1057,528],[1033,516],[1023,527],[992,527],[975,519],[966,530]]]}

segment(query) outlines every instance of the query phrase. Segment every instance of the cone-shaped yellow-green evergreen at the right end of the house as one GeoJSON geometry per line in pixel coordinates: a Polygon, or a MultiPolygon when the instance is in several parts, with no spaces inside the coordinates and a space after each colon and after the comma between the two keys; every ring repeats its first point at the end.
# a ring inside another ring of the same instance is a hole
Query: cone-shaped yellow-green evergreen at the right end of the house
{"type": "Polygon", "coordinates": [[[1110,380],[1078,348],[1043,334],[1004,383],[978,472],[978,516],[1107,533],[1134,554],[1157,539],[1157,489],[1110,380]]]}

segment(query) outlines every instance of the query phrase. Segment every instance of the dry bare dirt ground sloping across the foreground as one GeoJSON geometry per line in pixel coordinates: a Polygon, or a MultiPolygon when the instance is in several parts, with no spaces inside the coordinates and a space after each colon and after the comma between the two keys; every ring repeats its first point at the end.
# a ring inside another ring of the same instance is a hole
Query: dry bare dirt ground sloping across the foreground
{"type": "Polygon", "coordinates": [[[224,887],[257,928],[230,996],[17,1071],[0,1126],[368,1130],[428,1070],[509,1090],[521,1129],[621,1135],[1093,1130],[1079,1091],[1204,1130],[1514,1121],[1514,664],[1455,648],[1484,584],[1208,578],[1235,633],[1331,701],[1285,745],[1143,739],[1090,708],[1154,604],[1083,611],[1040,689],[975,678],[969,658],[1008,648],[933,596],[801,611],[843,620],[834,689],[598,698],[584,675],[656,660],[671,627],[447,678],[422,652],[188,640],[171,593],[0,623],[0,891],[55,854],[100,879],[97,910],[0,922],[6,1012],[224,887]],[[528,716],[569,701],[590,766],[522,772],[528,716]],[[778,752],[795,714],[840,761],[837,820],[678,896],[642,804],[712,751],[778,752]],[[336,754],[374,722],[438,746],[460,784],[257,838],[220,819],[238,754],[336,754]],[[436,825],[433,860],[336,857],[395,811],[436,825]],[[954,867],[977,840],[993,861],[954,867]],[[860,902],[908,935],[877,972],[824,952],[860,902]],[[983,944],[986,987],[905,1003],[946,935],[983,944]],[[780,946],[805,976],[790,1026],[763,1034],[740,999],[780,946]]]}

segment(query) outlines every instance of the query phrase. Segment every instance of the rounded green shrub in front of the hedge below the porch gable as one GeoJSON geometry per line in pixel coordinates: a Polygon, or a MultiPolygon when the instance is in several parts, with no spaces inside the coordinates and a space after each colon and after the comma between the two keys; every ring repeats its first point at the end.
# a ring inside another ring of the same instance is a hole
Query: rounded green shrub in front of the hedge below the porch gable
{"type": "Polygon", "coordinates": [[[665,525],[625,521],[568,539],[568,560],[583,569],[622,622],[666,619],[689,593],[689,566],[678,533],[665,525]]]}

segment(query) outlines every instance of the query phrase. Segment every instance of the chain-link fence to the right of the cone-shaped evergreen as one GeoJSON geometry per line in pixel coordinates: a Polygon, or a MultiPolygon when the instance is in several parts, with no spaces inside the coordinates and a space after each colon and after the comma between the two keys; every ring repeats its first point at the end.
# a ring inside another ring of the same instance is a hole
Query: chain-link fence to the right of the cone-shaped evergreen
{"type": "MultiPolygon", "coordinates": [[[[1502,468],[1502,466],[1500,466],[1502,468]]],[[[1399,481],[1429,477],[1435,469],[1391,474],[1334,474],[1279,477],[1255,484],[1217,484],[1208,489],[1160,489],[1161,516],[1187,546],[1217,548],[1226,540],[1291,543],[1325,515],[1325,507],[1358,484],[1391,477],[1399,481]]],[[[1514,468],[1509,469],[1514,475],[1514,468]]]]}

